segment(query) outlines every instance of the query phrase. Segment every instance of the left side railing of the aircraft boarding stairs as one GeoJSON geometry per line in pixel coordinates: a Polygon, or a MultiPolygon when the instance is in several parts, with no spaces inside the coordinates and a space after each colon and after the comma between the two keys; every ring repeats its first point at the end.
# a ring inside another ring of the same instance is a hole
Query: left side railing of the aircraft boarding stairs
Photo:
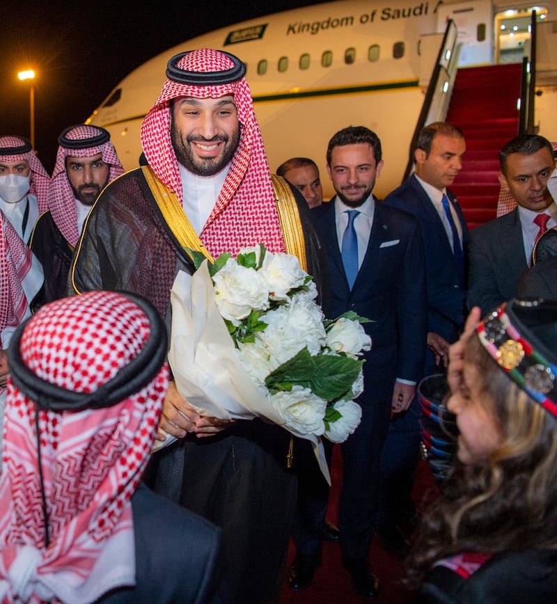
{"type": "Polygon", "coordinates": [[[402,182],[414,171],[414,150],[418,142],[418,135],[421,129],[432,122],[442,122],[445,120],[448,110],[450,95],[453,93],[455,77],[458,68],[458,55],[460,54],[460,44],[458,42],[458,30],[453,19],[447,23],[443,41],[439,47],[437,61],[433,67],[430,83],[427,86],[425,98],[414,134],[412,135],[408,163],[405,169],[402,182]]]}

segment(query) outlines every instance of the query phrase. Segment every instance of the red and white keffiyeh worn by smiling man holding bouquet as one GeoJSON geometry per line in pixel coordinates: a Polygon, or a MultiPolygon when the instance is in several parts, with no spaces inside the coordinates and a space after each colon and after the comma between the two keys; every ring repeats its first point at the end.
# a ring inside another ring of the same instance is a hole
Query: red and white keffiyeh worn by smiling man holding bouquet
{"type": "MultiPolygon", "coordinates": [[[[208,48],[189,52],[176,65],[192,72],[225,71],[232,66],[226,54],[208,48]]],[[[182,202],[182,181],[171,142],[170,101],[182,96],[219,98],[224,95],[234,95],[242,125],[240,143],[217,203],[201,232],[201,240],[214,257],[224,252],[237,255],[240,248],[260,243],[274,253],[284,252],[269,164],[251,92],[244,78],[218,86],[191,86],[167,79],[141,126],[143,152],[159,180],[182,202]]]]}

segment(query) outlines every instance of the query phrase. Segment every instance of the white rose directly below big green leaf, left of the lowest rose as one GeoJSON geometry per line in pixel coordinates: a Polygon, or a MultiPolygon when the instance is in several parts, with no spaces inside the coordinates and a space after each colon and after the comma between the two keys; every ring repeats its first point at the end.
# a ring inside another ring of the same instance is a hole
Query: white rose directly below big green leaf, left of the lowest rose
{"type": "Polygon", "coordinates": [[[323,434],[327,403],[315,396],[309,388],[293,386],[290,392],[277,392],[272,395],[270,401],[283,416],[286,428],[299,434],[323,434]]]}

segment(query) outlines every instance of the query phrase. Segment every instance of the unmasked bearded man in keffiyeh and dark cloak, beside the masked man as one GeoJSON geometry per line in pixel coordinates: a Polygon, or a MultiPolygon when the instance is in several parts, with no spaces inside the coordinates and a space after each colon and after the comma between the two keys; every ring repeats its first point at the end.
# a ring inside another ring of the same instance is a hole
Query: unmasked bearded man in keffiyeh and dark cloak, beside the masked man
{"type": "Polygon", "coordinates": [[[49,209],[38,218],[29,242],[45,271],[45,287],[33,301],[33,310],[65,296],[74,247],[91,206],[124,172],[104,128],[70,126],[58,137],[58,145],[49,209]]]}

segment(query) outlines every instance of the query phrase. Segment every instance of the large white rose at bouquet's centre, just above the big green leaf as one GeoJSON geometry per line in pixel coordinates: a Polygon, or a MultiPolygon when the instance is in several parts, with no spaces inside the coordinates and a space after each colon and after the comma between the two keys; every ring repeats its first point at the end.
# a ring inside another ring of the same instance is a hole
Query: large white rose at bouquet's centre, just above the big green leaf
{"type": "Polygon", "coordinates": [[[308,296],[296,294],[290,303],[269,310],[260,320],[267,323],[267,327],[257,337],[265,342],[278,365],[304,347],[308,347],[309,353],[315,356],[324,345],[323,313],[308,296]]]}

